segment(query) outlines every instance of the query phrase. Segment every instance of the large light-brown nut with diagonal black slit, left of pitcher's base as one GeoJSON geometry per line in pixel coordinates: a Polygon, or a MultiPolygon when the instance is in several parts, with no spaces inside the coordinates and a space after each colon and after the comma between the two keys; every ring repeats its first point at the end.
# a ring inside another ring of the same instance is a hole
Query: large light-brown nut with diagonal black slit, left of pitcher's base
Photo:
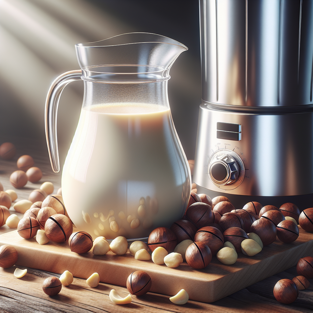
{"type": "Polygon", "coordinates": [[[69,239],[73,232],[73,225],[65,215],[54,214],[47,219],[44,231],[50,240],[60,243],[69,239]]]}

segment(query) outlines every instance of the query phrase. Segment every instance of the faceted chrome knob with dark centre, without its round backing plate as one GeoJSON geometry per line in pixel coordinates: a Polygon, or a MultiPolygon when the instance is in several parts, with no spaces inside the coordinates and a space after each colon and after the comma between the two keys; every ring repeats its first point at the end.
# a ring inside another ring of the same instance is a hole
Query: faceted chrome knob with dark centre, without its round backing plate
{"type": "Polygon", "coordinates": [[[209,164],[209,176],[218,185],[231,185],[237,181],[240,167],[228,154],[216,155],[209,164]]]}

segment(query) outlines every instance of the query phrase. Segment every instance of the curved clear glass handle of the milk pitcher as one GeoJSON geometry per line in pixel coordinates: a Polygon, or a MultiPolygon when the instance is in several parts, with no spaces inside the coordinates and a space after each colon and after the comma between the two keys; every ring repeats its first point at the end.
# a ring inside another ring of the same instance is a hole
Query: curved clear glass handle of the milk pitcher
{"type": "Polygon", "coordinates": [[[59,99],[64,87],[74,81],[80,80],[81,69],[63,73],[57,77],[49,88],[44,110],[46,139],[51,167],[55,173],[60,171],[58,139],[57,139],[57,112],[59,99]]]}

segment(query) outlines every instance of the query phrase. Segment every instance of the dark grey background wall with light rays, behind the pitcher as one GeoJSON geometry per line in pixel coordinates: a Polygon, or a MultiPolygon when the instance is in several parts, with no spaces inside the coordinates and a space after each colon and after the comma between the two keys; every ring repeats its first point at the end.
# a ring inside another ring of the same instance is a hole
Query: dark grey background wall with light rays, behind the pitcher
{"type": "MultiPolygon", "coordinates": [[[[188,159],[194,158],[201,103],[197,0],[3,0],[0,2],[0,134],[44,143],[44,103],[51,82],[78,69],[74,44],[121,33],[151,32],[189,50],[171,69],[168,93],[174,124],[188,159]]],[[[61,164],[80,115],[82,82],[59,103],[61,164]]],[[[5,140],[5,139],[3,139],[5,140]]]]}

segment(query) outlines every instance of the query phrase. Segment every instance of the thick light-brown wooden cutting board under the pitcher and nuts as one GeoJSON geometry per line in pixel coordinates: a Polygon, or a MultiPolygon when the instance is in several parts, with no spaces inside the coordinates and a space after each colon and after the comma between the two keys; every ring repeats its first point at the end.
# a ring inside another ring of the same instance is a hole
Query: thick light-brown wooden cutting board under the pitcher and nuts
{"type": "Polygon", "coordinates": [[[16,265],[61,274],[69,270],[75,277],[87,279],[92,273],[100,275],[100,281],[126,286],[128,275],[144,270],[152,280],[151,290],[165,295],[175,295],[185,289],[190,300],[213,302],[252,285],[276,273],[295,266],[304,256],[313,256],[313,236],[303,229],[292,244],[278,239],[254,257],[238,254],[233,265],[221,264],[216,257],[206,269],[195,270],[182,263],[178,268],[156,265],[152,261],[135,260],[129,251],[125,255],[80,255],[71,252],[68,243],[49,242],[39,245],[33,239],[23,239],[13,231],[0,236],[0,245],[11,244],[18,251],[16,265]]]}

